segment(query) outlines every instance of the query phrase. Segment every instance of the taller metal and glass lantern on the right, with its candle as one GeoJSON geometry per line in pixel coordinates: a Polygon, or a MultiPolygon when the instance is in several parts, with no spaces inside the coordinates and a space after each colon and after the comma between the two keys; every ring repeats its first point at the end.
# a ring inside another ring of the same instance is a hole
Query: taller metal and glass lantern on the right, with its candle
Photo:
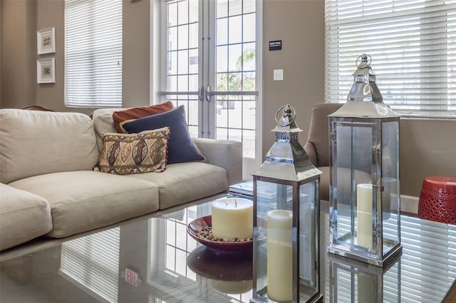
{"type": "Polygon", "coordinates": [[[328,116],[328,251],[384,266],[402,251],[399,116],[383,103],[370,56],[358,60],[347,102],[328,116]]]}

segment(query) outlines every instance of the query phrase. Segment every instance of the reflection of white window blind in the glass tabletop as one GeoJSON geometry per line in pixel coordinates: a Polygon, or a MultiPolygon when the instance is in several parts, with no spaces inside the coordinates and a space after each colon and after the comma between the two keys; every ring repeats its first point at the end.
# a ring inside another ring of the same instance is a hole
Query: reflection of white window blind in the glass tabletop
{"type": "Polygon", "coordinates": [[[62,243],[60,275],[100,302],[118,302],[120,228],[62,243]]]}

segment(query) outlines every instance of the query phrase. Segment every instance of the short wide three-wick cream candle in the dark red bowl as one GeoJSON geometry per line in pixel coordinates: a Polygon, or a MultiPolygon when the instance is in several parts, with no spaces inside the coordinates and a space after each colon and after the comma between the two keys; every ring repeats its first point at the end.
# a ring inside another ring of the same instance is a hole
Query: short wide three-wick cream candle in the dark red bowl
{"type": "Polygon", "coordinates": [[[212,235],[219,239],[253,237],[254,203],[242,198],[212,202],[212,235]]]}

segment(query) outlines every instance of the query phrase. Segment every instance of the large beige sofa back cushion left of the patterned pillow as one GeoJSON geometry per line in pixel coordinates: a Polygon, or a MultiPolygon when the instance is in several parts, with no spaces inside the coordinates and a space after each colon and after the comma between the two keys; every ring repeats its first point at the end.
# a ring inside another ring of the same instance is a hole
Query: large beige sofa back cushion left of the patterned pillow
{"type": "Polygon", "coordinates": [[[0,181],[91,170],[99,152],[93,123],[77,112],[0,110],[0,181]]]}

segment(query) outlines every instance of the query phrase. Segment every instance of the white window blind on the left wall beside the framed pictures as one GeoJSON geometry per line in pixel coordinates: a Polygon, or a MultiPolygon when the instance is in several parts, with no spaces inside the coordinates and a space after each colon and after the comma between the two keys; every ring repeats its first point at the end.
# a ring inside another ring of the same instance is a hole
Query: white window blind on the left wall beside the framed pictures
{"type": "Polygon", "coordinates": [[[65,105],[122,106],[122,0],[65,1],[65,105]]]}

